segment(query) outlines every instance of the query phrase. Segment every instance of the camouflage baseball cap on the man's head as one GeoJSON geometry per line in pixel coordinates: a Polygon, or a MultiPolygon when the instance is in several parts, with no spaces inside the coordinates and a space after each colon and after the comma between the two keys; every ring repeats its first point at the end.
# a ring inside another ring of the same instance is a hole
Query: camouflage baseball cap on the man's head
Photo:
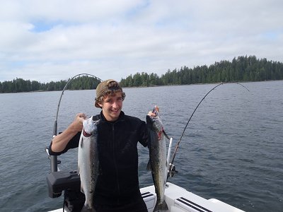
{"type": "Polygon", "coordinates": [[[102,81],[101,83],[99,83],[98,86],[96,87],[96,103],[95,103],[95,106],[100,107],[98,105],[99,99],[101,97],[103,97],[103,95],[107,94],[108,92],[113,92],[115,90],[121,90],[121,92],[123,92],[120,84],[113,79],[108,79],[106,81],[102,81]]]}

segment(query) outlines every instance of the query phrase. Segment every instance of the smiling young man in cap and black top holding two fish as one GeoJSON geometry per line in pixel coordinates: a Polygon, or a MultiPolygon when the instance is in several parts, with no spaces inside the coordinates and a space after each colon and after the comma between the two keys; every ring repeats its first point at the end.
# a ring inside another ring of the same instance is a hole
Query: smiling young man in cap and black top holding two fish
{"type": "MultiPolygon", "coordinates": [[[[102,111],[93,117],[98,124],[99,176],[94,195],[97,212],[146,212],[139,192],[137,142],[147,146],[146,123],[122,112],[125,93],[112,79],[96,88],[95,106],[102,111]]],[[[150,115],[155,114],[149,112],[150,115]]],[[[79,138],[86,115],[79,113],[68,128],[54,137],[50,154],[60,155],[79,146],[79,138]]]]}

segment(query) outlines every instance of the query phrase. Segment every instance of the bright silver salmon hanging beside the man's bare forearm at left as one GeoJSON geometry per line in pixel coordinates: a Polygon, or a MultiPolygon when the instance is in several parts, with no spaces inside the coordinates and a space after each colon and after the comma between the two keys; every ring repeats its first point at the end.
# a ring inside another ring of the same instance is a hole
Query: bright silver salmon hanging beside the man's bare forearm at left
{"type": "Polygon", "coordinates": [[[84,136],[81,132],[78,153],[78,173],[81,179],[81,192],[85,194],[86,201],[81,211],[95,211],[93,206],[94,190],[98,178],[98,143],[97,125],[99,121],[93,121],[93,117],[85,120],[83,126],[87,125],[91,134],[84,136]]]}

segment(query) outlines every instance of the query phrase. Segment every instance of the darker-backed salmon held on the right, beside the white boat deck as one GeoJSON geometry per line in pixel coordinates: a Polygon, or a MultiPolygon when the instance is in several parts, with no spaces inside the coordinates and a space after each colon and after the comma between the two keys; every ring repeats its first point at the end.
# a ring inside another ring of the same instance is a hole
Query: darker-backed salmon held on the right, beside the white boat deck
{"type": "Polygon", "coordinates": [[[163,130],[158,108],[154,107],[153,112],[156,117],[146,115],[146,125],[149,131],[149,163],[147,170],[151,170],[157,196],[154,211],[168,211],[168,206],[164,200],[167,179],[166,137],[168,136],[163,130]]]}

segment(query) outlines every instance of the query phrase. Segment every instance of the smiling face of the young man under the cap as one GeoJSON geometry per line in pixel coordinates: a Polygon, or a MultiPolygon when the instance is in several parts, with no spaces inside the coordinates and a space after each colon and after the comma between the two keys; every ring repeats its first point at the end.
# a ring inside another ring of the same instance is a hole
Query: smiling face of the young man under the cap
{"type": "Polygon", "coordinates": [[[102,107],[102,112],[106,120],[109,122],[116,121],[122,110],[122,92],[117,91],[112,95],[106,95],[103,98],[103,102],[98,105],[102,107]]]}

